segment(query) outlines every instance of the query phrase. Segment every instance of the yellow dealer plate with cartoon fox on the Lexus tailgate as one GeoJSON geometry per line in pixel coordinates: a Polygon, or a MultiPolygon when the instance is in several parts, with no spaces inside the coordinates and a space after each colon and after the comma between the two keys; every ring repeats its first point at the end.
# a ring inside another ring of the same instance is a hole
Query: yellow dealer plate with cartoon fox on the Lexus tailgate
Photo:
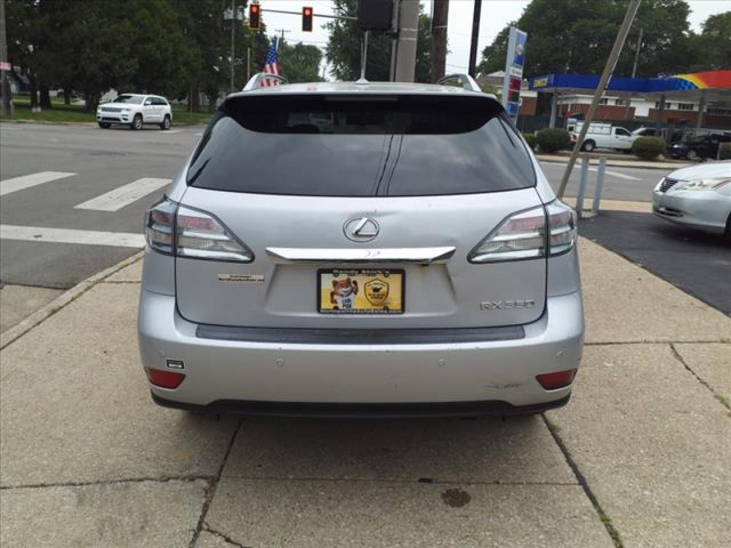
{"type": "Polygon", "coordinates": [[[404,313],[404,270],[317,271],[317,311],[322,314],[404,313]]]}

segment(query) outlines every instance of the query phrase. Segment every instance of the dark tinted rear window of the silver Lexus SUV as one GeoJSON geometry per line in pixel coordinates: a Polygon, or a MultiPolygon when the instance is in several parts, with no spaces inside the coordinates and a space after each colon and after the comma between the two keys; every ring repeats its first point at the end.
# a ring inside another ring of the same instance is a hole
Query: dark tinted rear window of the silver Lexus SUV
{"type": "Polygon", "coordinates": [[[429,196],[535,186],[531,158],[488,96],[235,96],[194,153],[202,189],[429,196]]]}

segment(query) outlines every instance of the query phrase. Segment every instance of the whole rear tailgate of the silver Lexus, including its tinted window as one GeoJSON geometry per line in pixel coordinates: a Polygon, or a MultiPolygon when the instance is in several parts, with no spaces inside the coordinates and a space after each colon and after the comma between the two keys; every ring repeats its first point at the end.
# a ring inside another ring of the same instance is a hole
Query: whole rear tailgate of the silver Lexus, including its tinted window
{"type": "Polygon", "coordinates": [[[468,260],[505,218],[541,207],[523,142],[487,96],[235,97],[189,183],[181,203],[213,214],[254,254],[176,259],[178,310],[191,321],[491,327],[542,314],[546,259],[468,260]],[[367,237],[349,237],[360,219],[367,237]],[[342,313],[333,278],[372,310],[342,313]],[[388,313],[372,281],[390,293],[388,313]]]}

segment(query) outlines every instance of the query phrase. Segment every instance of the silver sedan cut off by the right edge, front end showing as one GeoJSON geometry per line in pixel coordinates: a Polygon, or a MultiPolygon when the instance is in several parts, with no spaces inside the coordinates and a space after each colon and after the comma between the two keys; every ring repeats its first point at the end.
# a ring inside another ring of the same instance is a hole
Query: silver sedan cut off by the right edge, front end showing
{"type": "Polygon", "coordinates": [[[731,161],[670,173],[655,186],[652,212],[666,221],[731,237],[731,161]]]}

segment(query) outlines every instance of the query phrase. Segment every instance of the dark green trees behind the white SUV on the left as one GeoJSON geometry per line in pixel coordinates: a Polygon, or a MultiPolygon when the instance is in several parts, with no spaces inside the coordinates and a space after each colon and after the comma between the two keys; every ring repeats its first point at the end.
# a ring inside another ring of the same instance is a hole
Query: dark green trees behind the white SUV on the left
{"type": "MultiPolygon", "coordinates": [[[[221,94],[231,91],[232,64],[234,89],[241,89],[247,50],[251,48],[251,72],[259,72],[269,48],[265,27],[252,33],[240,20],[224,20],[221,0],[5,2],[9,58],[28,78],[32,104],[37,90],[50,86],[82,94],[90,110],[111,88],[188,97],[192,108],[202,92],[212,107],[221,94]]],[[[243,0],[236,3],[242,5],[243,0]]],[[[292,55],[300,56],[294,64],[303,62],[311,69],[312,62],[303,60],[318,52],[290,47],[292,55]]]]}

